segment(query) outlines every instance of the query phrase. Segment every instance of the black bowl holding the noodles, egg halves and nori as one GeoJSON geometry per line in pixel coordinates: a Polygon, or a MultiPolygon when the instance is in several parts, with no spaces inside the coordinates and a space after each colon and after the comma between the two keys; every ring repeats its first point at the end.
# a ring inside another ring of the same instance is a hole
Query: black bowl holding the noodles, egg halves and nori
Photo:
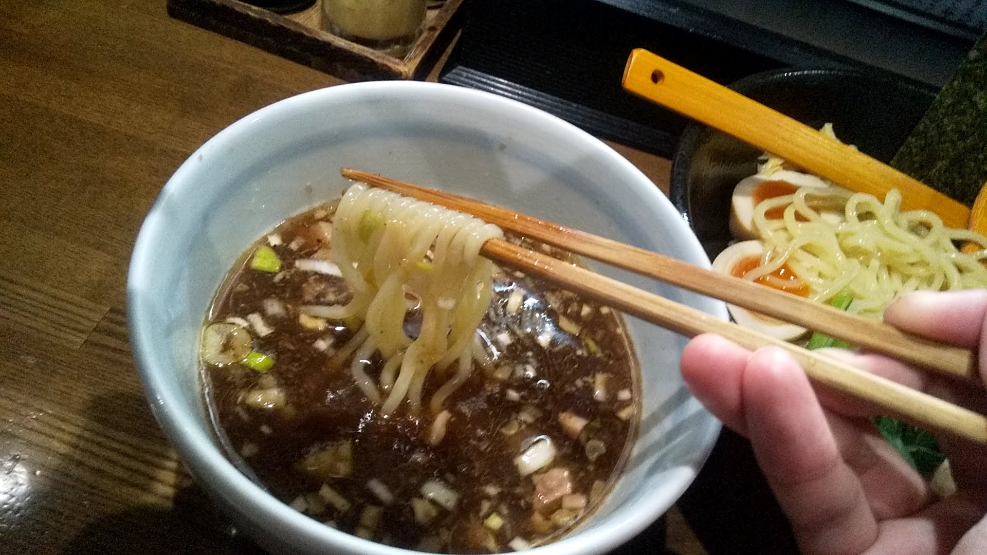
{"type": "MultiPolygon", "coordinates": [[[[841,140],[883,162],[894,156],[936,95],[893,76],[853,69],[768,71],[730,88],[812,127],[832,122],[841,140]]],[[[690,124],[679,140],[669,197],[711,259],[731,240],[733,188],[757,171],[760,154],[698,123],[690,124]]],[[[750,443],[729,430],[723,430],[678,506],[711,555],[797,555],[795,538],[750,443]]]]}

